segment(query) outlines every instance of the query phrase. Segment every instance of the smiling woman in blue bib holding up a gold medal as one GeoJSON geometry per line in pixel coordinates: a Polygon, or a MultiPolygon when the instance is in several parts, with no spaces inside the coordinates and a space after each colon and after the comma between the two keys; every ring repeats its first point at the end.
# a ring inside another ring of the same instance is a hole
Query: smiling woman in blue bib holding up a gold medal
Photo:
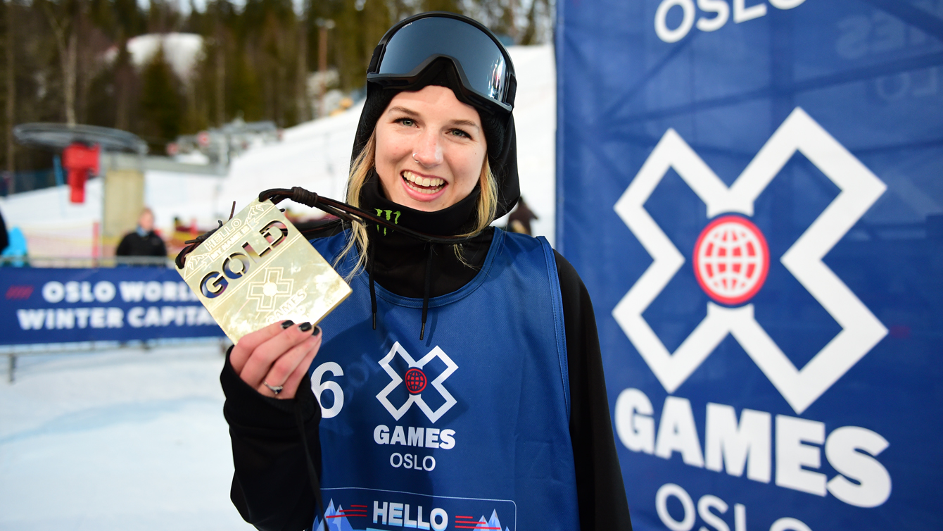
{"type": "Polygon", "coordinates": [[[331,529],[631,529],[587,290],[545,240],[489,226],[519,196],[515,83],[458,15],[374,51],[347,200],[392,225],[313,240],[351,297],[323,332],[245,336],[223,370],[256,527],[320,523],[320,478],[331,529]]]}

